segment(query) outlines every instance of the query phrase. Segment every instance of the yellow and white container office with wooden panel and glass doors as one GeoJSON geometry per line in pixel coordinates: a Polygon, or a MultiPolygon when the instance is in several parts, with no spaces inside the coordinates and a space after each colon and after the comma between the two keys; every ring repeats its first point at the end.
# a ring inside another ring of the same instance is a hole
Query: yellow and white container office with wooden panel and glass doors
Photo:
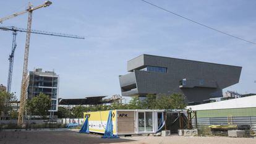
{"type": "MultiPolygon", "coordinates": [[[[116,109],[112,111],[114,135],[156,133],[164,125],[164,110],[116,109]]],[[[104,133],[109,111],[84,112],[90,132],[104,133]]]]}

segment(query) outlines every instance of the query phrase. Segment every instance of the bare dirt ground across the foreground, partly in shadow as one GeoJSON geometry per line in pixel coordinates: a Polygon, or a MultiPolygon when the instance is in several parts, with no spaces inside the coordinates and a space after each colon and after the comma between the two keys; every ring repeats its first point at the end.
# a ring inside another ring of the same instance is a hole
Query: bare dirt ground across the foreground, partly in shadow
{"type": "Polygon", "coordinates": [[[1,144],[38,143],[38,144],[85,144],[85,143],[175,143],[175,144],[255,144],[256,138],[229,138],[229,137],[125,137],[117,139],[100,138],[101,135],[88,135],[74,131],[19,131],[0,132],[1,144]]]}

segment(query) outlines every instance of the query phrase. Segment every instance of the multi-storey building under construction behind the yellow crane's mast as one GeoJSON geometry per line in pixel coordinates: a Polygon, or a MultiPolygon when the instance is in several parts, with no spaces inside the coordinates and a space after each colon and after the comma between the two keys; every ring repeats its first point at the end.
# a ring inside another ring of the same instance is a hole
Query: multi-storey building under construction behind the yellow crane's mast
{"type": "Polygon", "coordinates": [[[44,93],[51,98],[51,109],[49,111],[58,111],[59,97],[59,75],[53,71],[35,69],[29,72],[28,99],[44,93]]]}

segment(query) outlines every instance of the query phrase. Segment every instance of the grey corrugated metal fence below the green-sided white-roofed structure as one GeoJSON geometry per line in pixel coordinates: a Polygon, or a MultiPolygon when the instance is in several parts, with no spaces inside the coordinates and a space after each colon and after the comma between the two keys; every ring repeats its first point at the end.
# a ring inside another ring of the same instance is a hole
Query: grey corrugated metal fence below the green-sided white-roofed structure
{"type": "MultiPolygon", "coordinates": [[[[218,124],[236,124],[236,125],[250,125],[252,130],[256,132],[256,116],[245,117],[200,117],[197,118],[197,125],[218,125],[218,124]]],[[[192,119],[193,126],[195,119],[192,119]]]]}

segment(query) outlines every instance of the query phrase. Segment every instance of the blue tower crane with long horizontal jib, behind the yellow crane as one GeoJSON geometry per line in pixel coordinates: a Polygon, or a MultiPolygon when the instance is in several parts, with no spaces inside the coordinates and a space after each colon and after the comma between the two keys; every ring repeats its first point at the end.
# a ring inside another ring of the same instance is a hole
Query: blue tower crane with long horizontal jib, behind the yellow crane
{"type": "MultiPolygon", "coordinates": [[[[17,46],[17,44],[16,44],[17,32],[27,32],[28,30],[25,28],[17,28],[17,27],[0,27],[0,30],[12,31],[12,51],[11,51],[11,54],[9,55],[9,70],[8,70],[8,79],[7,79],[7,92],[11,93],[12,69],[13,69],[13,64],[14,64],[14,52],[15,52],[15,48],[17,46]]],[[[66,38],[84,39],[83,36],[69,35],[66,33],[46,32],[46,31],[42,31],[42,30],[31,30],[31,33],[36,33],[36,34],[40,34],[40,35],[61,36],[61,37],[66,37],[66,38]]]]}

